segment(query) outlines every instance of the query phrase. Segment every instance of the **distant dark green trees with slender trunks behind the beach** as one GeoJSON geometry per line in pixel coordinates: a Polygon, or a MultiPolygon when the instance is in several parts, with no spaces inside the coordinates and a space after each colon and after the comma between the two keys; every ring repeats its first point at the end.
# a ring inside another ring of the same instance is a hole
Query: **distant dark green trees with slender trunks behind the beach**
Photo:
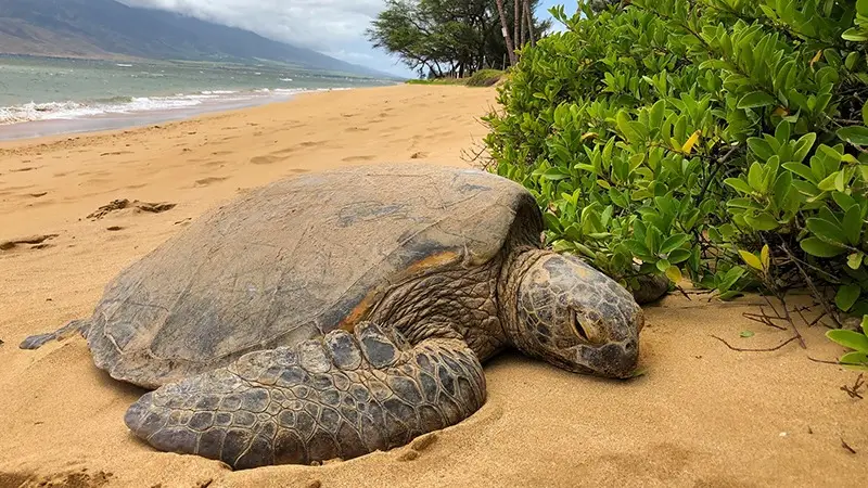
{"type": "Polygon", "coordinates": [[[539,0],[386,0],[367,29],[374,48],[420,77],[464,77],[518,62],[516,52],[550,27],[539,0]]]}

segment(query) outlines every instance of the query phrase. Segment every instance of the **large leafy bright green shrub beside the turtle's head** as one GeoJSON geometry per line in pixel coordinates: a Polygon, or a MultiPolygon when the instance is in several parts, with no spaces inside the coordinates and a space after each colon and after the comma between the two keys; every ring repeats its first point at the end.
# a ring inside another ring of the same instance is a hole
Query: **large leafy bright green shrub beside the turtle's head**
{"type": "MultiPolygon", "coordinates": [[[[868,313],[868,0],[634,0],[526,48],[485,117],[547,242],[628,287],[868,313]]],[[[859,334],[861,335],[861,334],[859,334]]],[[[852,338],[852,337],[851,337],[852,338]]]]}

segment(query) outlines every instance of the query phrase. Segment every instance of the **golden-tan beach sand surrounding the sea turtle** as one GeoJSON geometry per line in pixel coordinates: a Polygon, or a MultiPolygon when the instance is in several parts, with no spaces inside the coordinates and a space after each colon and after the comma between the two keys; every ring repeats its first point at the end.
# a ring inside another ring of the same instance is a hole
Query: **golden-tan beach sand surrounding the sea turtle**
{"type": "Polygon", "coordinates": [[[143,390],[99,371],[81,337],[17,348],[89,316],[122,268],[245,189],[339,165],[470,164],[494,103],[494,89],[360,89],[0,144],[0,487],[864,486],[868,400],[840,389],[857,373],[808,359],[842,350],[821,326],[802,326],[807,349],[775,352],[712,337],[787,339],[742,316],[757,297],[647,307],[648,372],[626,383],[505,354],[486,364],[484,408],[433,442],[323,466],[231,472],[157,452],[123,422],[143,390]]]}

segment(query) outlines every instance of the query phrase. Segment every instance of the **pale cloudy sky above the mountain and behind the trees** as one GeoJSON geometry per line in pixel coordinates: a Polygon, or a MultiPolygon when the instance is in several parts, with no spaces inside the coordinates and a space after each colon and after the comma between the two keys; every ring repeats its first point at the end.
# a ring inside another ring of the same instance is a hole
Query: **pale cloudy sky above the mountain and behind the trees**
{"type": "MultiPolygon", "coordinates": [[[[218,24],[253,30],[264,37],[302,46],[350,63],[401,76],[413,76],[396,60],[371,48],[365,29],[383,9],[383,0],[120,0],[189,14],[218,24]]],[[[538,16],[575,1],[542,0],[538,16]]]]}

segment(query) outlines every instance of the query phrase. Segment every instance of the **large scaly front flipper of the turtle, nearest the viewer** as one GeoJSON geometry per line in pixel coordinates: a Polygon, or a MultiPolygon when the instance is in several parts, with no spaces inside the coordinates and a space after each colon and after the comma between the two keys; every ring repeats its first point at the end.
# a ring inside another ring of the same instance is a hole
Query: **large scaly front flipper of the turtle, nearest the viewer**
{"type": "Polygon", "coordinates": [[[368,322],[164,385],[125,422],[159,450],[247,468],[392,449],[457,424],[484,401],[482,365],[463,341],[409,345],[368,322]]]}

